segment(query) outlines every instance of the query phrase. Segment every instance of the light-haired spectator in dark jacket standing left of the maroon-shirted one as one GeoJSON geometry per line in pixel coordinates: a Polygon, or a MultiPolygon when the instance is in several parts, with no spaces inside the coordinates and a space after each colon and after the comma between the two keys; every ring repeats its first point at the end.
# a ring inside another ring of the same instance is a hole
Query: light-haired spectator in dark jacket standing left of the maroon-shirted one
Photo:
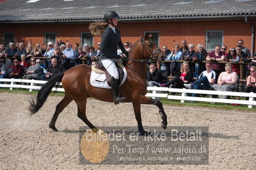
{"type": "Polygon", "coordinates": [[[204,70],[206,70],[205,68],[205,63],[202,63],[202,61],[206,60],[207,57],[207,51],[205,50],[205,47],[203,46],[203,44],[198,43],[198,45],[196,46],[196,49],[198,50],[198,52],[196,52],[196,54],[194,54],[195,58],[195,73],[196,73],[196,78],[198,78],[198,76],[200,75],[201,72],[203,72],[204,70]]]}

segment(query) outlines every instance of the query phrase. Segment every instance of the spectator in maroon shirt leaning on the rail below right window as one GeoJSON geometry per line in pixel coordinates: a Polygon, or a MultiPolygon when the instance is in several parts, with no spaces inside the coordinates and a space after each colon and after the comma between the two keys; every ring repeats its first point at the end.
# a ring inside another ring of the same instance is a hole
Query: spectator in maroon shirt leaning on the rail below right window
{"type": "MultiPolygon", "coordinates": [[[[210,52],[206,58],[207,61],[225,61],[225,54],[221,51],[221,46],[216,45],[215,50],[210,52]]],[[[219,74],[222,72],[223,68],[220,64],[213,63],[212,70],[216,72],[216,79],[218,79],[219,74]]]]}

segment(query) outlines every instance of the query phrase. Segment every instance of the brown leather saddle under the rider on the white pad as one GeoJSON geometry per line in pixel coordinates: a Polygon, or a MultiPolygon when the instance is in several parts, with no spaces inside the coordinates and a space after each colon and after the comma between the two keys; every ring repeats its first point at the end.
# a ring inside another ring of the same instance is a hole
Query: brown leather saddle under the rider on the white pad
{"type": "MultiPolygon", "coordinates": [[[[117,61],[117,70],[119,73],[119,79],[118,79],[118,85],[121,84],[121,82],[123,81],[123,77],[124,77],[124,71],[123,71],[123,64],[122,62],[118,62],[117,61]]],[[[112,80],[112,76],[110,75],[110,73],[108,73],[108,71],[106,70],[106,68],[103,66],[103,64],[101,63],[101,61],[96,61],[93,65],[92,65],[92,72],[96,72],[96,73],[100,73],[100,74],[105,74],[106,75],[106,80],[108,86],[111,87],[111,80],[112,80]]],[[[98,80],[96,80],[98,81],[98,80]]]]}

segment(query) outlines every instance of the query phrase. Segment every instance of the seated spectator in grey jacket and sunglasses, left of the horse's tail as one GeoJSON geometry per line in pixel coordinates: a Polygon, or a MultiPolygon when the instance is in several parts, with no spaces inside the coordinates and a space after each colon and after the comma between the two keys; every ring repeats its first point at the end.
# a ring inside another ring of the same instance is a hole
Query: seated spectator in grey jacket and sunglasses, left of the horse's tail
{"type": "Polygon", "coordinates": [[[26,71],[26,75],[24,75],[22,79],[40,80],[42,75],[41,66],[35,63],[35,58],[31,58],[30,63],[31,65],[26,71]]]}

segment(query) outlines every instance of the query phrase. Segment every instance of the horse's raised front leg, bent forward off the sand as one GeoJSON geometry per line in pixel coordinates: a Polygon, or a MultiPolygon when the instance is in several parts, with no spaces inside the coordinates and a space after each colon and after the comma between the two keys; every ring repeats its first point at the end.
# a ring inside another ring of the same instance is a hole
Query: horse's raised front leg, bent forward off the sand
{"type": "Polygon", "coordinates": [[[139,97],[139,103],[141,104],[153,104],[153,105],[157,105],[158,109],[159,109],[159,113],[160,116],[162,118],[162,122],[161,122],[161,127],[166,129],[167,128],[167,116],[166,116],[166,112],[164,112],[164,107],[162,105],[162,102],[160,102],[157,99],[152,99],[150,97],[146,97],[144,95],[141,95],[139,97]]]}

